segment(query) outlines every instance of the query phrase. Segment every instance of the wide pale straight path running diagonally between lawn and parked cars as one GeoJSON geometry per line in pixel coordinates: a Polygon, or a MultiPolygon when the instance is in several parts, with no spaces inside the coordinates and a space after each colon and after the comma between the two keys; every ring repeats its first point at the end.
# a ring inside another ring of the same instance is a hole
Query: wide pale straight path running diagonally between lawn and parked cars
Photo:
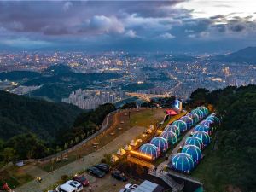
{"type": "MultiPolygon", "coordinates": [[[[92,166],[100,162],[104,154],[112,154],[116,152],[120,147],[123,147],[126,143],[129,143],[131,139],[143,133],[144,130],[144,127],[133,127],[129,131],[125,131],[125,133],[113,139],[111,143],[108,143],[103,148],[98,149],[92,154],[84,156],[84,160],[74,161],[67,166],[62,166],[60,169],[57,169],[54,172],[49,172],[45,175],[42,175],[40,176],[43,178],[42,183],[39,184],[35,180],[33,180],[32,182],[26,183],[15,189],[15,192],[44,191],[44,189],[55,184],[62,175],[73,175],[76,172],[86,169],[88,166],[92,166]]],[[[93,178],[90,178],[90,180],[93,180],[93,178]]]]}

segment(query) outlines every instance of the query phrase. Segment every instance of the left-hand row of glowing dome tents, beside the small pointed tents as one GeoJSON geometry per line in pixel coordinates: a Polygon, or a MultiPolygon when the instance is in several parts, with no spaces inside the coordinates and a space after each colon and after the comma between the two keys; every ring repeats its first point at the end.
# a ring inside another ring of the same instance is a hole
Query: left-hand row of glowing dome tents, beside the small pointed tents
{"type": "Polygon", "coordinates": [[[171,125],[167,125],[165,130],[160,134],[160,137],[154,137],[150,143],[143,144],[139,148],[139,153],[147,155],[151,160],[157,159],[160,154],[177,143],[177,137],[196,125],[201,119],[204,119],[208,113],[206,107],[201,106],[195,108],[190,113],[174,121],[171,125]]]}

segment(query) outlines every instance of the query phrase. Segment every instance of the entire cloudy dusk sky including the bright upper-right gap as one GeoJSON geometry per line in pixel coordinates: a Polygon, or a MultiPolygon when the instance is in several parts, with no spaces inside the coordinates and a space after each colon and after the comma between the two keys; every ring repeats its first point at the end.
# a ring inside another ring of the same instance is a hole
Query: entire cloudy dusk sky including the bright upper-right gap
{"type": "Polygon", "coordinates": [[[0,49],[229,51],[256,45],[255,0],[0,1],[0,49]]]}

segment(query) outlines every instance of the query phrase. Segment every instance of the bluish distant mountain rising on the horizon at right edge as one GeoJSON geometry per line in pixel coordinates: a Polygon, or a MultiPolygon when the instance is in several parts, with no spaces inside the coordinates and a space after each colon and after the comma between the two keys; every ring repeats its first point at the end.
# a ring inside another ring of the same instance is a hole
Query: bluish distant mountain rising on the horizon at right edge
{"type": "Polygon", "coordinates": [[[236,52],[217,55],[211,58],[211,61],[220,62],[239,62],[239,63],[256,63],[256,47],[247,47],[236,52]]]}

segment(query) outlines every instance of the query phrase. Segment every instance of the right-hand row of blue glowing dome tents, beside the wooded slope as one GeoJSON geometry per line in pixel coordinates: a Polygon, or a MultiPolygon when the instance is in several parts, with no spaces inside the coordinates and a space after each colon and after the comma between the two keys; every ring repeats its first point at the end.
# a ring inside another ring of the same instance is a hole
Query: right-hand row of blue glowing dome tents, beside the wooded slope
{"type": "Polygon", "coordinates": [[[178,172],[189,173],[195,168],[202,158],[202,149],[206,148],[211,142],[210,135],[214,131],[215,125],[220,123],[215,113],[212,113],[195,126],[191,137],[188,137],[184,143],[181,153],[174,154],[168,167],[178,172]]]}

